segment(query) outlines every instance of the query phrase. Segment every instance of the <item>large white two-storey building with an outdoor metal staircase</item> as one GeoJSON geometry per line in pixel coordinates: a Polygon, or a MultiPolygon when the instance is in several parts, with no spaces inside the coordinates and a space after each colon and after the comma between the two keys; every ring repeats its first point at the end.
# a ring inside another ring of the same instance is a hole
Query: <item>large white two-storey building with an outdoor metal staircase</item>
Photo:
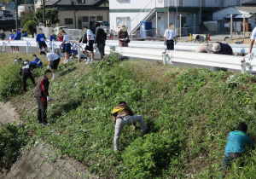
{"type": "MultiPolygon", "coordinates": [[[[212,12],[229,6],[241,5],[250,0],[109,0],[110,26],[119,31],[125,24],[130,32],[140,27],[140,21],[152,21],[162,36],[169,23],[179,27],[179,15],[182,15],[181,26],[199,26],[201,21],[212,20],[212,12]]],[[[183,28],[185,29],[185,28],[183,28]]],[[[179,32],[179,31],[177,31],[179,32]]]]}

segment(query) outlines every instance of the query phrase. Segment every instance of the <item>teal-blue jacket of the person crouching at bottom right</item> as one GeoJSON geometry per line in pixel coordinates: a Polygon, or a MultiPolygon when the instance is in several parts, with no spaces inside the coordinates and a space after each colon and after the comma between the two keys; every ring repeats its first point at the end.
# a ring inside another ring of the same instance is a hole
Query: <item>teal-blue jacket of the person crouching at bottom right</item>
{"type": "Polygon", "coordinates": [[[225,153],[243,153],[246,151],[247,145],[253,150],[255,149],[253,141],[246,133],[239,130],[232,131],[228,136],[225,153]]]}

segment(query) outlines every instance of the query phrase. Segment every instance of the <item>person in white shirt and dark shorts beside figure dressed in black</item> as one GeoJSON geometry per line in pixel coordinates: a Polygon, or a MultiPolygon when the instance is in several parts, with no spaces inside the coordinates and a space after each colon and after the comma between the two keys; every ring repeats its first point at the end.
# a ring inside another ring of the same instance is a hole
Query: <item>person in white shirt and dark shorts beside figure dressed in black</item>
{"type": "Polygon", "coordinates": [[[94,34],[90,29],[88,29],[87,26],[84,26],[84,28],[87,29],[87,44],[84,48],[84,54],[87,57],[86,64],[90,64],[90,62],[94,61],[94,52],[93,52],[94,34]],[[91,58],[89,57],[88,51],[90,51],[91,58]]]}

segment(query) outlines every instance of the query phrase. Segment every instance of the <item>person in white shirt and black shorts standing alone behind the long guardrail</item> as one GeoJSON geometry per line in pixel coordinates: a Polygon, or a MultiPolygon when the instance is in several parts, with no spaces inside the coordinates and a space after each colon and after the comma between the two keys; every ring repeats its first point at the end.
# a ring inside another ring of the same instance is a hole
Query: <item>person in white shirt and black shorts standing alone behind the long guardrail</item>
{"type": "Polygon", "coordinates": [[[169,24],[169,29],[166,29],[165,32],[165,45],[166,45],[166,49],[174,49],[174,40],[175,40],[175,44],[177,43],[176,40],[176,33],[174,31],[173,25],[172,23],[169,24]]]}

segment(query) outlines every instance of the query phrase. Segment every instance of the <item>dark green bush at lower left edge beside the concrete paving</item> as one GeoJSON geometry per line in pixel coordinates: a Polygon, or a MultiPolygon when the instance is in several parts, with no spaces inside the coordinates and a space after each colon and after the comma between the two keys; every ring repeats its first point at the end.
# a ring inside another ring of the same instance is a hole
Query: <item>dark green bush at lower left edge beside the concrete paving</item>
{"type": "Polygon", "coordinates": [[[0,125],[0,166],[7,167],[28,141],[25,130],[14,124],[0,125]]]}

